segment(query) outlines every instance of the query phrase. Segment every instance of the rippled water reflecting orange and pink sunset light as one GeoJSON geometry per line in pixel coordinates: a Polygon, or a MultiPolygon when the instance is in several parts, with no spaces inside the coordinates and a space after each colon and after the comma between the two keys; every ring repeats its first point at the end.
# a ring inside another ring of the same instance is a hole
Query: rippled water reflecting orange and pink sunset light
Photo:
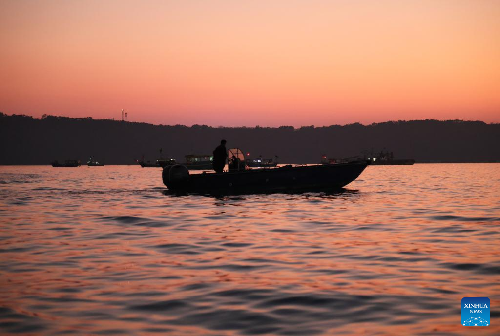
{"type": "Polygon", "coordinates": [[[0,334],[500,334],[500,164],[164,190],[156,168],[0,167],[0,334]],[[466,296],[490,298],[489,327],[460,325],[466,296]]]}

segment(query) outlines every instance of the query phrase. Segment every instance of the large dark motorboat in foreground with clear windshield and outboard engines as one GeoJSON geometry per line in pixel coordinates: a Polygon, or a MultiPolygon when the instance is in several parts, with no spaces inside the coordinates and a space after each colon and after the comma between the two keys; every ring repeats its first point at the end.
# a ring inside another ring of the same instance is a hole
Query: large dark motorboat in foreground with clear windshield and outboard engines
{"type": "Polygon", "coordinates": [[[244,155],[237,148],[229,150],[229,158],[229,169],[223,173],[189,174],[184,165],[165,167],[163,184],[170,191],[209,194],[331,190],[354,181],[367,166],[366,161],[357,161],[245,169],[244,155]]]}

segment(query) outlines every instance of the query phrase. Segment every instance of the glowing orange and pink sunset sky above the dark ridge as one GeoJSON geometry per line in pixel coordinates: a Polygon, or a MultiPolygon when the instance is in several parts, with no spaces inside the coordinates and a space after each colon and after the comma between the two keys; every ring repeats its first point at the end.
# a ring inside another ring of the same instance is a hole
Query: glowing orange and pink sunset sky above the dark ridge
{"type": "Polygon", "coordinates": [[[0,111],[500,122],[498,0],[0,0],[0,111]]]}

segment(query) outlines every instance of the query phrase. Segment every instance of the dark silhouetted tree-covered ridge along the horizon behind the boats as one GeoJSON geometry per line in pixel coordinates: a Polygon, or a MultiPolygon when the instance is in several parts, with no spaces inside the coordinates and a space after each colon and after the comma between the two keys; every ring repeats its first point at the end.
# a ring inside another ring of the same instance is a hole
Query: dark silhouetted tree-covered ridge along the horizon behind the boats
{"type": "Polygon", "coordinates": [[[417,163],[500,162],[500,124],[462,120],[387,121],[324,127],[210,127],[152,125],[113,119],[0,112],[0,164],[49,164],[89,157],[106,164],[134,164],[141,156],[184,162],[211,154],[220,139],[250,158],[278,156],[280,163],[319,163],[321,155],[345,158],[381,150],[417,163]]]}

